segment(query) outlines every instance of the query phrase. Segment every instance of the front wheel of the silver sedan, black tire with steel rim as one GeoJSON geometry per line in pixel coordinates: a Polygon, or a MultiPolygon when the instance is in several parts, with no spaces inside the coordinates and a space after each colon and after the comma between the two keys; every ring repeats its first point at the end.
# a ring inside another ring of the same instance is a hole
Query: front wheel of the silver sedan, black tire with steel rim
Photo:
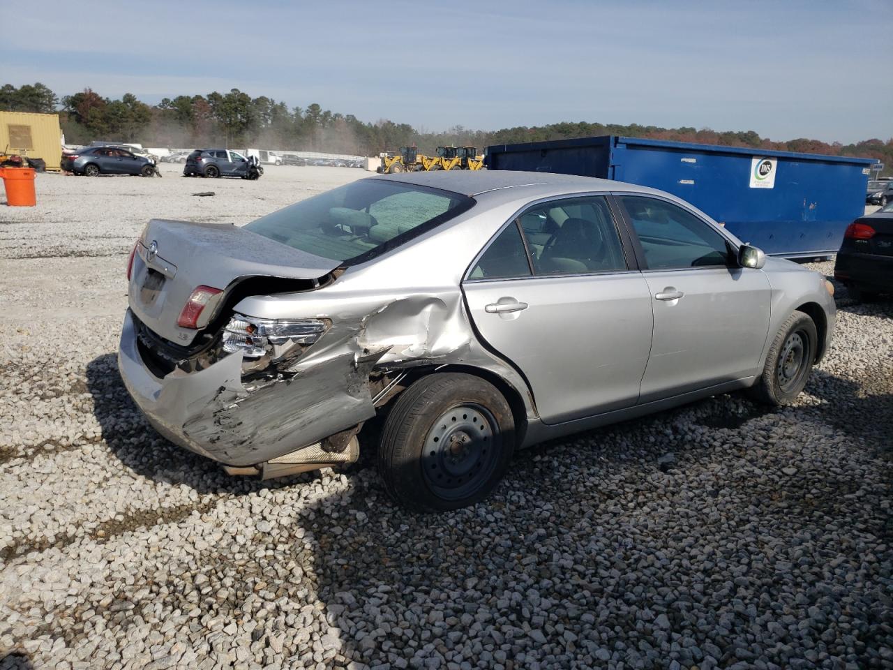
{"type": "Polygon", "coordinates": [[[789,405],[804,389],[813,371],[819,336],[808,314],[794,312],[772,340],[763,374],[748,389],[764,405],[789,405]]]}

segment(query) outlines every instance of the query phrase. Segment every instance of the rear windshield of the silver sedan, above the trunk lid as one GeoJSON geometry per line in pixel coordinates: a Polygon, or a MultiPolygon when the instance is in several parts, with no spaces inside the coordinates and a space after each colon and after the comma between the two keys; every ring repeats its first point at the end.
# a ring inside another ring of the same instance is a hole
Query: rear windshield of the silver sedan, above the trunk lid
{"type": "Polygon", "coordinates": [[[246,226],[265,238],[344,264],[363,263],[462,214],[471,197],[390,180],[358,180],[246,226]]]}

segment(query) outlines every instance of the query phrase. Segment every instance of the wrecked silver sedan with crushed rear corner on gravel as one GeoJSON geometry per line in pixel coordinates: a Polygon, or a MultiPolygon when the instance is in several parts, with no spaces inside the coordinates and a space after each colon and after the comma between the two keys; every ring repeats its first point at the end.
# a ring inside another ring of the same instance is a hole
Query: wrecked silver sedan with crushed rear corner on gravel
{"type": "Polygon", "coordinates": [[[157,431],[263,477],[362,443],[418,510],[479,501],[542,440],[736,389],[789,403],[835,319],[821,275],[679,198],[530,172],[153,220],[128,277],[121,376],[157,431]]]}

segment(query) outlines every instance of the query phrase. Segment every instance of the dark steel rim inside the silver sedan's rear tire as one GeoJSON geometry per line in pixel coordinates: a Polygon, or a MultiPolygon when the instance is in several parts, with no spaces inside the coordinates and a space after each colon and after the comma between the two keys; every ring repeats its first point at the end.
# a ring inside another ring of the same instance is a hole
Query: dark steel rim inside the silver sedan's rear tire
{"type": "Polygon", "coordinates": [[[439,498],[457,500],[478,493],[497,468],[499,424],[476,403],[450,407],[439,415],[425,437],[421,470],[439,498]]]}

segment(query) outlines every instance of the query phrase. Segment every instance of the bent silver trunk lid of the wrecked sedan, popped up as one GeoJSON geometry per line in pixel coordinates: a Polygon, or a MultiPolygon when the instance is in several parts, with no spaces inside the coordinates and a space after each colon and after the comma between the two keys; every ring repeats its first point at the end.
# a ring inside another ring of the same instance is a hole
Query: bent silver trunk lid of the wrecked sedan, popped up
{"type": "Polygon", "coordinates": [[[188,347],[200,331],[180,328],[177,320],[197,287],[222,289],[221,299],[205,308],[220,309],[243,279],[313,281],[336,267],[338,261],[299,251],[227,223],[153,219],[137,242],[129,305],[150,331],[188,347]]]}

